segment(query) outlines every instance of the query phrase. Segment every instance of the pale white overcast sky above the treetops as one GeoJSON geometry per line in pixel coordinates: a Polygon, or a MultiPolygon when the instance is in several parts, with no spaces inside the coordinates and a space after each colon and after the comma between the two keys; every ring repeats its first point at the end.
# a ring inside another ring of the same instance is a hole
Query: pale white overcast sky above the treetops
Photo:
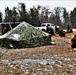
{"type": "Polygon", "coordinates": [[[0,11],[4,13],[5,7],[8,6],[11,9],[13,6],[17,6],[18,2],[25,3],[28,10],[33,5],[49,6],[51,10],[54,7],[65,7],[67,11],[71,11],[76,7],[75,0],[0,0],[0,11]]]}

